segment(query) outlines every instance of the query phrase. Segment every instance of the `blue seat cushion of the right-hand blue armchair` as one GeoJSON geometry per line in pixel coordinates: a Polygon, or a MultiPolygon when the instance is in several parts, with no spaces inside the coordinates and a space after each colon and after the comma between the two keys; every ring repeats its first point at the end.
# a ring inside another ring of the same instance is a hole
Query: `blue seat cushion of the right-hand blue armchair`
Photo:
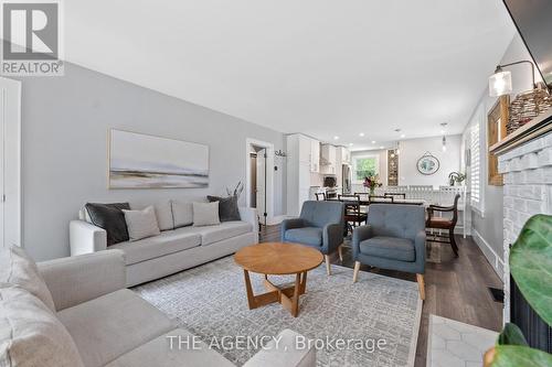
{"type": "Polygon", "coordinates": [[[360,252],[378,258],[415,261],[414,242],[405,238],[376,236],[360,242],[360,252]]]}

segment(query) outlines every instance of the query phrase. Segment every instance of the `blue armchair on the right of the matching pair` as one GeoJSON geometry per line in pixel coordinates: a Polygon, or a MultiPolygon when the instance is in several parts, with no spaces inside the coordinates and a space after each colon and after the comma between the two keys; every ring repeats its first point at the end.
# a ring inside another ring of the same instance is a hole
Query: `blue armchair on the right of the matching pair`
{"type": "Polygon", "coordinates": [[[365,226],[352,235],[353,282],[360,265],[416,274],[425,299],[425,211],[422,205],[372,204],[365,226]]]}

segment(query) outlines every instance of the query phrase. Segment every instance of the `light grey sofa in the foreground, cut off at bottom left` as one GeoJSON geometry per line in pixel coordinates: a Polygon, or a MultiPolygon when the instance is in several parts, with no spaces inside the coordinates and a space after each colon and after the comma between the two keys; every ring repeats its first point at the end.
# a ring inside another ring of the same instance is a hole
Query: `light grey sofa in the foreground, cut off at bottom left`
{"type": "MultiPolygon", "coordinates": [[[[1,366],[233,366],[204,343],[174,347],[174,341],[192,334],[125,289],[120,250],[46,261],[36,269],[24,251],[12,248],[0,250],[0,265],[1,366]]],[[[279,345],[270,344],[244,366],[316,365],[314,350],[295,348],[298,334],[286,330],[279,336],[279,345]]]]}

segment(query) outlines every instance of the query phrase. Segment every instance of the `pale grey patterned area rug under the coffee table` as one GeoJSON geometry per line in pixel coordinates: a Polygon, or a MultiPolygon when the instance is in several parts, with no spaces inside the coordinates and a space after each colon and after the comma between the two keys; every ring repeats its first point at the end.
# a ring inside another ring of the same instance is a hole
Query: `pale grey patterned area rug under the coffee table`
{"type": "MultiPolygon", "coordinates": [[[[252,274],[255,292],[264,292],[262,277],[252,274]]],[[[270,280],[284,284],[294,277],[270,280]]],[[[322,265],[308,274],[298,317],[278,303],[248,310],[243,270],[232,257],[136,287],[134,291],[208,345],[213,338],[276,336],[290,328],[317,341],[318,366],[414,365],[422,313],[414,282],[361,271],[353,284],[352,269],[332,266],[328,277],[322,265]],[[337,339],[350,344],[336,347],[337,339]],[[360,347],[357,341],[364,345],[360,347]]],[[[215,345],[214,349],[237,366],[257,352],[230,345],[215,345]]]]}

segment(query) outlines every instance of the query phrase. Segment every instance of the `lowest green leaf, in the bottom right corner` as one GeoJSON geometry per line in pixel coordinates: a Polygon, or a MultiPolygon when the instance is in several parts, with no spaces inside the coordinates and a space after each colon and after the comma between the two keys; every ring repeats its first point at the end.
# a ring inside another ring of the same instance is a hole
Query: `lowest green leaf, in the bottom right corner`
{"type": "Polygon", "coordinates": [[[552,355],[520,345],[498,345],[491,367],[552,367],[552,355]]]}

